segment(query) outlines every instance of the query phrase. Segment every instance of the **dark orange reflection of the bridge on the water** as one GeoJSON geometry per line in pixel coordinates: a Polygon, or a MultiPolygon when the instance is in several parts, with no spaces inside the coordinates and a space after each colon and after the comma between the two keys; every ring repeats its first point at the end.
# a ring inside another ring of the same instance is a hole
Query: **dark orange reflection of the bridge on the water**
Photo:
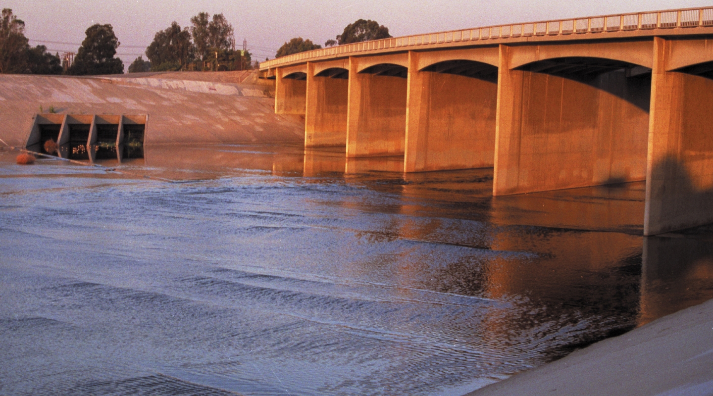
{"type": "MultiPolygon", "coordinates": [[[[620,293],[622,306],[607,309],[618,310],[630,318],[638,317],[636,324],[700,303],[709,296],[707,284],[713,260],[709,233],[703,230],[699,231],[702,234],[686,237],[677,234],[640,239],[640,213],[645,204],[643,182],[492,197],[490,169],[401,174],[401,157],[348,159],[344,149],[303,150],[279,145],[148,146],[145,165],[149,169],[183,172],[174,178],[220,178],[235,172],[257,172],[307,177],[307,184],[323,183],[324,179],[347,182],[351,179],[400,197],[394,210],[406,217],[423,216],[424,202],[430,202],[426,209],[433,217],[430,222],[416,226],[407,219],[394,222],[385,231],[386,239],[437,241],[438,232],[448,228],[444,221],[472,217],[485,224],[484,228],[463,234],[462,240],[456,241],[459,244],[540,255],[529,266],[523,266],[520,259],[495,255],[496,261],[483,264],[482,271],[474,271],[466,262],[461,263],[462,268],[458,267],[461,264],[452,264],[441,269],[443,278],[461,274],[464,285],[470,282],[479,288],[459,293],[477,292],[491,298],[528,295],[549,301],[558,296],[561,285],[581,283],[580,296],[563,299],[588,309],[597,305],[597,298],[612,301],[605,293],[620,293]],[[472,210],[476,206],[478,210],[472,210]],[[533,236],[530,231],[518,232],[521,226],[550,231],[533,236]],[[482,276],[469,280],[473,273],[482,276]],[[636,279],[634,288],[630,285],[632,279],[636,279]],[[613,280],[620,284],[611,284],[613,280]]],[[[170,178],[171,174],[163,176],[170,178]]],[[[356,205],[351,209],[371,210],[368,202],[350,205],[356,205]]],[[[423,265],[411,262],[414,259],[406,256],[394,259],[404,261],[408,268],[423,265]]],[[[408,278],[407,273],[404,276],[408,278]]],[[[572,288],[568,288],[568,293],[572,293],[572,288]]],[[[507,318],[497,319],[500,320],[507,318]]]]}

